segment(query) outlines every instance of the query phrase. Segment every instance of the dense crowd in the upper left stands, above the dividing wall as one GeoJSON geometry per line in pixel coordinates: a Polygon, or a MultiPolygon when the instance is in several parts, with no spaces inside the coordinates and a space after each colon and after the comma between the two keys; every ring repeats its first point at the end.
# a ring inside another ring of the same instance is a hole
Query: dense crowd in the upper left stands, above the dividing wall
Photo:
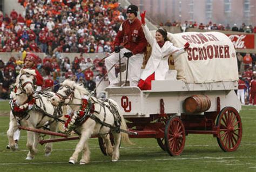
{"type": "Polygon", "coordinates": [[[19,0],[25,17],[0,11],[0,52],[111,52],[126,18],[114,0],[19,0]]]}

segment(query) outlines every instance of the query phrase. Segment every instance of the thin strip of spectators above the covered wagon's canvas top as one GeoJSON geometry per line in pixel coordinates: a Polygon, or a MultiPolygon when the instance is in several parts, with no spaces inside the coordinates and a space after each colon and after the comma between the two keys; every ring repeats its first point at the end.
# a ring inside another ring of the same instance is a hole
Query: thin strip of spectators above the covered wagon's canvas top
{"type": "Polygon", "coordinates": [[[234,24],[233,26],[230,26],[230,24],[227,24],[226,26],[222,24],[216,24],[209,22],[207,24],[200,23],[198,24],[197,22],[188,22],[185,21],[183,24],[180,22],[171,22],[170,20],[167,20],[165,24],[160,23],[160,26],[176,26],[180,27],[180,30],[185,32],[188,28],[198,28],[201,30],[225,30],[225,31],[236,31],[236,32],[245,32],[245,33],[256,33],[256,26],[252,25],[247,25],[245,23],[242,23],[240,27],[237,26],[237,24],[234,24]]]}

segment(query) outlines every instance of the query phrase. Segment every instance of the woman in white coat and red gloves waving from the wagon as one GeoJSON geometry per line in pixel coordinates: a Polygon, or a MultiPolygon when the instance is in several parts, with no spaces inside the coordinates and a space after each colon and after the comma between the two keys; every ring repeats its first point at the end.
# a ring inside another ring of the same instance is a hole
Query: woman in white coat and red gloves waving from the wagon
{"type": "Polygon", "coordinates": [[[150,46],[152,47],[151,56],[142,75],[140,76],[138,87],[140,90],[151,90],[152,80],[165,80],[165,76],[169,71],[168,59],[170,54],[178,55],[185,52],[190,44],[186,43],[180,49],[170,42],[167,38],[167,32],[164,28],[156,31],[156,38],[153,38],[149,28],[145,23],[146,11],[140,14],[142,18],[142,28],[150,46]]]}

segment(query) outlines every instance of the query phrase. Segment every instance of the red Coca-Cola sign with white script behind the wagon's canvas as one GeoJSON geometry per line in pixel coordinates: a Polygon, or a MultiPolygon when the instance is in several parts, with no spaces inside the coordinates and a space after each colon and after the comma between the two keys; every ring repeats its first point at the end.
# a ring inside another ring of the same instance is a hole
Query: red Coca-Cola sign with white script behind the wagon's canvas
{"type": "Polygon", "coordinates": [[[254,49],[253,34],[227,34],[231,39],[235,49],[254,49]]]}

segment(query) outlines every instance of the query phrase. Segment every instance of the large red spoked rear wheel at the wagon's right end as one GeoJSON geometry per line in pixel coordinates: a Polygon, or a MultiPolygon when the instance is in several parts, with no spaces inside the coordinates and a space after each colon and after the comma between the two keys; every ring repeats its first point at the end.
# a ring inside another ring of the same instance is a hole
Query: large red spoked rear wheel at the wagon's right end
{"type": "Polygon", "coordinates": [[[242,121],[239,113],[233,107],[225,107],[217,119],[220,128],[217,141],[224,152],[237,150],[242,139],[242,121]]]}

